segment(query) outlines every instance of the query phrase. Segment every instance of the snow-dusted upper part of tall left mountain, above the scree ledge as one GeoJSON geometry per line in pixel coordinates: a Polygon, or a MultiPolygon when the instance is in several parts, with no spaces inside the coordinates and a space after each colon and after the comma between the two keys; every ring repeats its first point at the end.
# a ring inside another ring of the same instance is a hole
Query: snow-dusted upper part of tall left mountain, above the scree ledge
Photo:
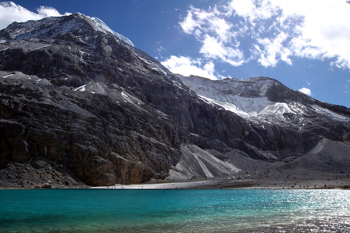
{"type": "Polygon", "coordinates": [[[159,74],[158,78],[186,89],[174,74],[98,18],[74,14],[15,22],[0,31],[0,41],[0,48],[9,59],[1,62],[0,69],[3,70],[37,74],[54,83],[79,87],[90,81],[114,83],[116,76],[120,76],[116,72],[123,72],[124,67],[144,66],[159,74]],[[91,56],[91,53],[95,55],[91,56]],[[68,69],[61,69],[62,61],[70,64],[68,69]],[[132,64],[135,62],[138,64],[132,64]],[[105,72],[109,66],[118,69],[105,72]]]}

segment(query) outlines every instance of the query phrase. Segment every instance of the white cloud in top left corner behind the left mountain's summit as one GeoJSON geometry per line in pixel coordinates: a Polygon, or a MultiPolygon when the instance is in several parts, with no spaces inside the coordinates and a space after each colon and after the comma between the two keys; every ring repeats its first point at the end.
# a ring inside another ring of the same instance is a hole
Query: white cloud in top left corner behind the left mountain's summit
{"type": "MultiPolygon", "coordinates": [[[[70,13],[65,13],[70,15],[70,13]]],[[[47,6],[40,6],[37,13],[15,4],[12,1],[0,2],[0,29],[6,28],[10,23],[38,20],[43,17],[62,16],[56,9],[47,6]]]]}

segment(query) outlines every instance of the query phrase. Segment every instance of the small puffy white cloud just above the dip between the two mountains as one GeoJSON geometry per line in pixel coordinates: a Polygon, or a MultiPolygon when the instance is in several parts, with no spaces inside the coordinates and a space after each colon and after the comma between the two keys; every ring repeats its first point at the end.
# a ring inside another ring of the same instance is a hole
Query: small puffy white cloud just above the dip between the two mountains
{"type": "Polygon", "coordinates": [[[204,66],[200,60],[193,60],[190,57],[176,57],[171,56],[161,63],[175,74],[182,74],[184,76],[198,75],[212,80],[217,78],[214,76],[214,63],[209,61],[204,66]]]}

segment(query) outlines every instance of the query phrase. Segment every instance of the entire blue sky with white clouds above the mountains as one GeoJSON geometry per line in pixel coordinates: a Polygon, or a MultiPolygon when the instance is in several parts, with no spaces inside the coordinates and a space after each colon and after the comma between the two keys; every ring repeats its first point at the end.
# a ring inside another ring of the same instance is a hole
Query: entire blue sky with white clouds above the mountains
{"type": "Polygon", "coordinates": [[[13,21],[98,17],[174,73],[265,76],[350,107],[350,0],[0,1],[13,21]]]}

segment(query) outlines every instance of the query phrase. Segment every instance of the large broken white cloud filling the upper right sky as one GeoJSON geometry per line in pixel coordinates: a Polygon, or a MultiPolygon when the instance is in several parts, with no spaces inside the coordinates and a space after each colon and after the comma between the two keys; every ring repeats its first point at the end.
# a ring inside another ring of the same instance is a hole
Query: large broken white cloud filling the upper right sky
{"type": "Polygon", "coordinates": [[[191,6],[179,24],[200,42],[198,57],[213,62],[275,67],[301,57],[350,69],[345,0],[230,0],[208,10],[191,6]]]}

